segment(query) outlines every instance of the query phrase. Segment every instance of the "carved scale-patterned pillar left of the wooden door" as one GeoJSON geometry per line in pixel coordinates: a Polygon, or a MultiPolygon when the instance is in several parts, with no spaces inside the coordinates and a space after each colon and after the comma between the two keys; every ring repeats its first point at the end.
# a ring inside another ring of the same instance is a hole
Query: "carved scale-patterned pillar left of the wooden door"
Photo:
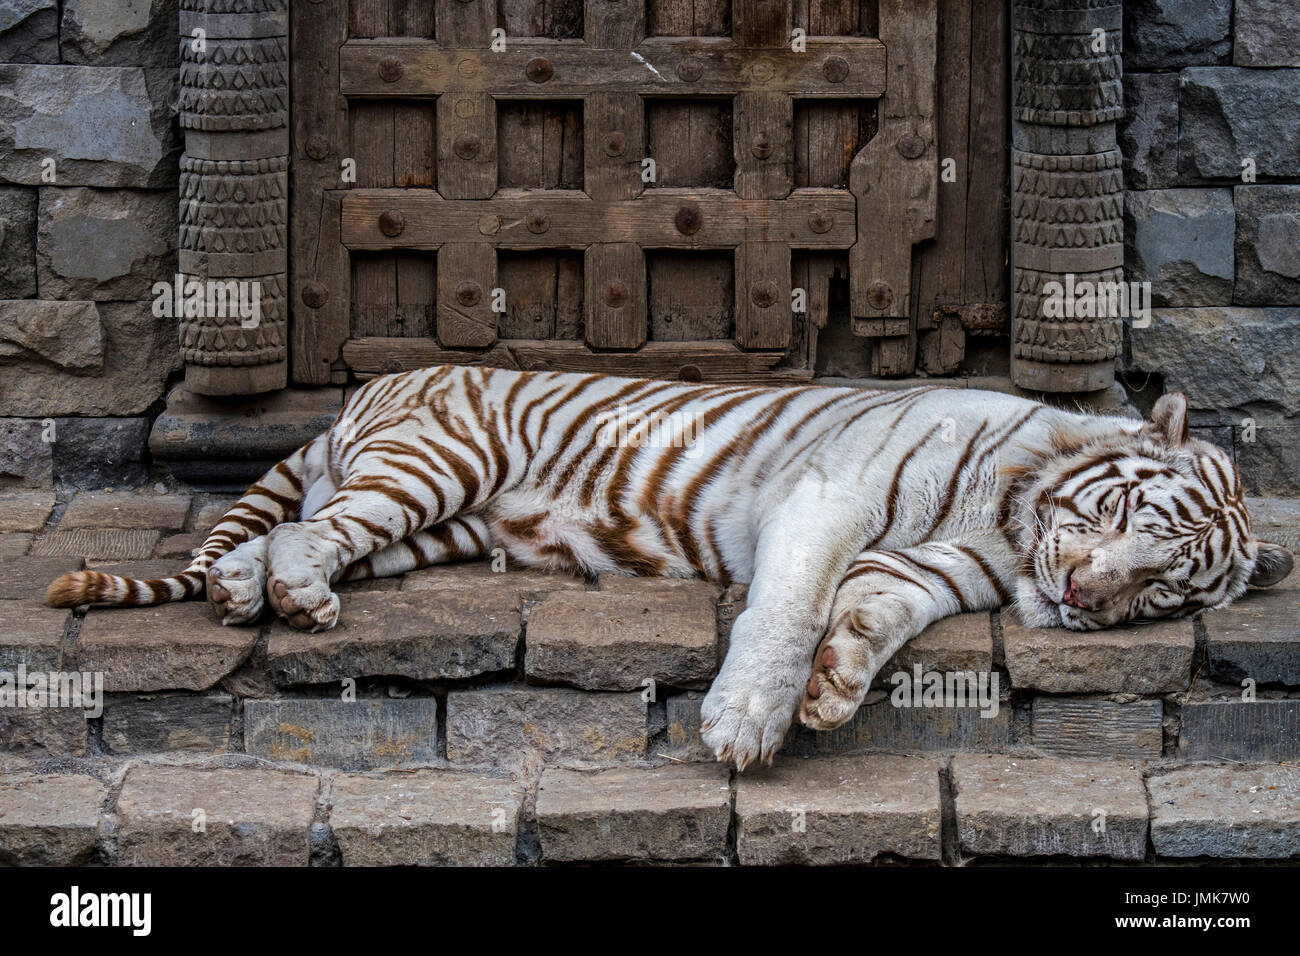
{"type": "Polygon", "coordinates": [[[179,26],[181,273],[244,284],[259,311],[256,319],[211,308],[182,316],[185,382],[207,395],[281,389],[289,367],[289,0],[181,0],[179,26]]]}

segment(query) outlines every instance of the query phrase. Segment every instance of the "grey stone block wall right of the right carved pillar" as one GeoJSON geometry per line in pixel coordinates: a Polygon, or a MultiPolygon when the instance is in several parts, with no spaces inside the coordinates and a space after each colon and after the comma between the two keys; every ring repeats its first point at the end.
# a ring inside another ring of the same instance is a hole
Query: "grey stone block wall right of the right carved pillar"
{"type": "Polygon", "coordinates": [[[1300,3],[1126,0],[1126,384],[1182,390],[1253,493],[1300,492],[1300,3]]]}

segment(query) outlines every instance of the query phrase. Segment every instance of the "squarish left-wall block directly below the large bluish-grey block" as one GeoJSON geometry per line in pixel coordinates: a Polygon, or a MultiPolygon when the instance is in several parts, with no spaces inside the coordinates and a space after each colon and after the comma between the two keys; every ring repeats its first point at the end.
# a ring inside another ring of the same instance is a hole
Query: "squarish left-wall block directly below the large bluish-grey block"
{"type": "Polygon", "coordinates": [[[51,299],[153,300],[177,271],[174,193],[42,189],[40,294],[51,299]]]}

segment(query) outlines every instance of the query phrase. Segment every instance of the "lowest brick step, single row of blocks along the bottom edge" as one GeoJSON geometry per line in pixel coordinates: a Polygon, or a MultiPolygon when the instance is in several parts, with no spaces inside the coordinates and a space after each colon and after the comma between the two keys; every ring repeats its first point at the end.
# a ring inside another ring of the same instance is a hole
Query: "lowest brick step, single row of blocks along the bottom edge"
{"type": "Polygon", "coordinates": [[[1300,857],[1300,769],[1005,754],[484,774],[0,771],[0,864],[967,864],[1300,857]]]}

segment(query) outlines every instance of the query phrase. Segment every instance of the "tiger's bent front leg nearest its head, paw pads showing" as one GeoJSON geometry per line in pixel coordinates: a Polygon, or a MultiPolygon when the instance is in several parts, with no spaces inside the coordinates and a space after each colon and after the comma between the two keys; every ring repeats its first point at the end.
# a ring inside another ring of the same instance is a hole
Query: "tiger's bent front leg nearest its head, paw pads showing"
{"type": "Polygon", "coordinates": [[[876,672],[909,640],[952,614],[997,607],[1014,585],[1014,557],[997,532],[980,541],[863,551],[849,566],[831,627],[812,659],[800,721],[833,730],[862,704],[876,672]]]}

